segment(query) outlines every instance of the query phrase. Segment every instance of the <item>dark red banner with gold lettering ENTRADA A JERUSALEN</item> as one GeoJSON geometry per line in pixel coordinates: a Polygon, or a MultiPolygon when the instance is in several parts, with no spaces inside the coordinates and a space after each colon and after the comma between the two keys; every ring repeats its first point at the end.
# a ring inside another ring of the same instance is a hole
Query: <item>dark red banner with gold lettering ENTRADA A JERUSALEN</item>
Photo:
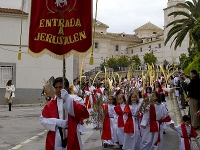
{"type": "Polygon", "coordinates": [[[92,48],[92,0],[32,0],[29,54],[87,55],[92,48]]]}

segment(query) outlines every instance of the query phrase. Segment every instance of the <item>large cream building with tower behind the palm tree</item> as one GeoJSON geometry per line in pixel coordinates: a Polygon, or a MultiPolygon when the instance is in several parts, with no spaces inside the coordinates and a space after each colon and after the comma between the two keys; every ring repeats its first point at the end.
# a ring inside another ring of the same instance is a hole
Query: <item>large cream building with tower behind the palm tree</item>
{"type": "MultiPolygon", "coordinates": [[[[96,33],[94,45],[96,47],[94,51],[94,65],[90,66],[88,64],[88,55],[85,58],[85,66],[83,70],[85,72],[99,67],[102,60],[110,57],[118,57],[119,55],[133,56],[139,55],[141,61],[143,61],[143,56],[145,53],[153,52],[153,54],[158,58],[158,63],[163,63],[167,60],[169,63],[179,63],[179,56],[182,53],[188,53],[189,39],[188,36],[182,43],[181,47],[174,50],[174,45],[171,45],[173,38],[164,45],[164,41],[167,38],[167,33],[170,28],[166,28],[166,25],[173,21],[175,18],[173,16],[168,17],[168,14],[183,10],[181,7],[177,7],[177,3],[184,3],[185,0],[168,0],[167,8],[164,9],[164,29],[161,29],[151,22],[148,22],[141,27],[134,30],[135,34],[125,34],[125,33],[108,33],[108,25],[101,22],[96,24],[96,33]],[[103,58],[103,59],[101,59],[103,58]]],[[[179,18],[178,16],[177,18],[179,18]]]]}

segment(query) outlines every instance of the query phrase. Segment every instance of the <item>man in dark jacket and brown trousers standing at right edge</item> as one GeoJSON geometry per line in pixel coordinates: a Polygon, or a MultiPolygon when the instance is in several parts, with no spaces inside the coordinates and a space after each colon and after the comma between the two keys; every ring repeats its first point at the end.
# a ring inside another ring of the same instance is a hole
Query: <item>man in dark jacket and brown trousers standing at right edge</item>
{"type": "Polygon", "coordinates": [[[200,118],[195,113],[199,110],[200,104],[200,79],[196,70],[190,71],[191,81],[187,86],[191,122],[194,128],[200,127],[200,118]]]}

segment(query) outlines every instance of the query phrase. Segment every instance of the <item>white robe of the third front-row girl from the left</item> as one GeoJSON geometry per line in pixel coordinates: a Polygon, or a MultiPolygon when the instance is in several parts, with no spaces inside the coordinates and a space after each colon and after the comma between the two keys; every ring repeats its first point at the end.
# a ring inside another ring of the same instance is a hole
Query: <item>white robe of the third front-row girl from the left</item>
{"type": "MultiPolygon", "coordinates": [[[[140,134],[140,127],[139,127],[139,117],[136,116],[137,111],[139,110],[140,104],[132,104],[129,105],[132,119],[133,119],[133,126],[134,126],[134,133],[128,134],[125,133],[124,135],[124,143],[123,149],[124,150],[140,150],[140,142],[141,142],[141,134],[140,134]]],[[[125,120],[127,120],[127,114],[124,114],[125,120]]]]}

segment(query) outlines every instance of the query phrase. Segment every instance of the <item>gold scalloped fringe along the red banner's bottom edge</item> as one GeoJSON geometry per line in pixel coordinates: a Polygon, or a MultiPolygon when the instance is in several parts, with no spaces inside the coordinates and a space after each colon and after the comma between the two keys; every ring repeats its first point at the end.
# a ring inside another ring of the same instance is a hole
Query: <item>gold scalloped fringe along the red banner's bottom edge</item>
{"type": "Polygon", "coordinates": [[[39,58],[42,55],[47,54],[58,60],[63,60],[64,58],[68,58],[70,55],[76,55],[78,57],[86,57],[91,52],[92,52],[92,46],[86,52],[78,52],[76,50],[71,50],[70,52],[63,54],[64,55],[64,57],[63,57],[63,55],[57,55],[55,53],[52,53],[50,50],[48,50],[46,48],[43,49],[40,53],[34,53],[30,49],[28,49],[29,55],[31,55],[34,58],[39,58]]]}

